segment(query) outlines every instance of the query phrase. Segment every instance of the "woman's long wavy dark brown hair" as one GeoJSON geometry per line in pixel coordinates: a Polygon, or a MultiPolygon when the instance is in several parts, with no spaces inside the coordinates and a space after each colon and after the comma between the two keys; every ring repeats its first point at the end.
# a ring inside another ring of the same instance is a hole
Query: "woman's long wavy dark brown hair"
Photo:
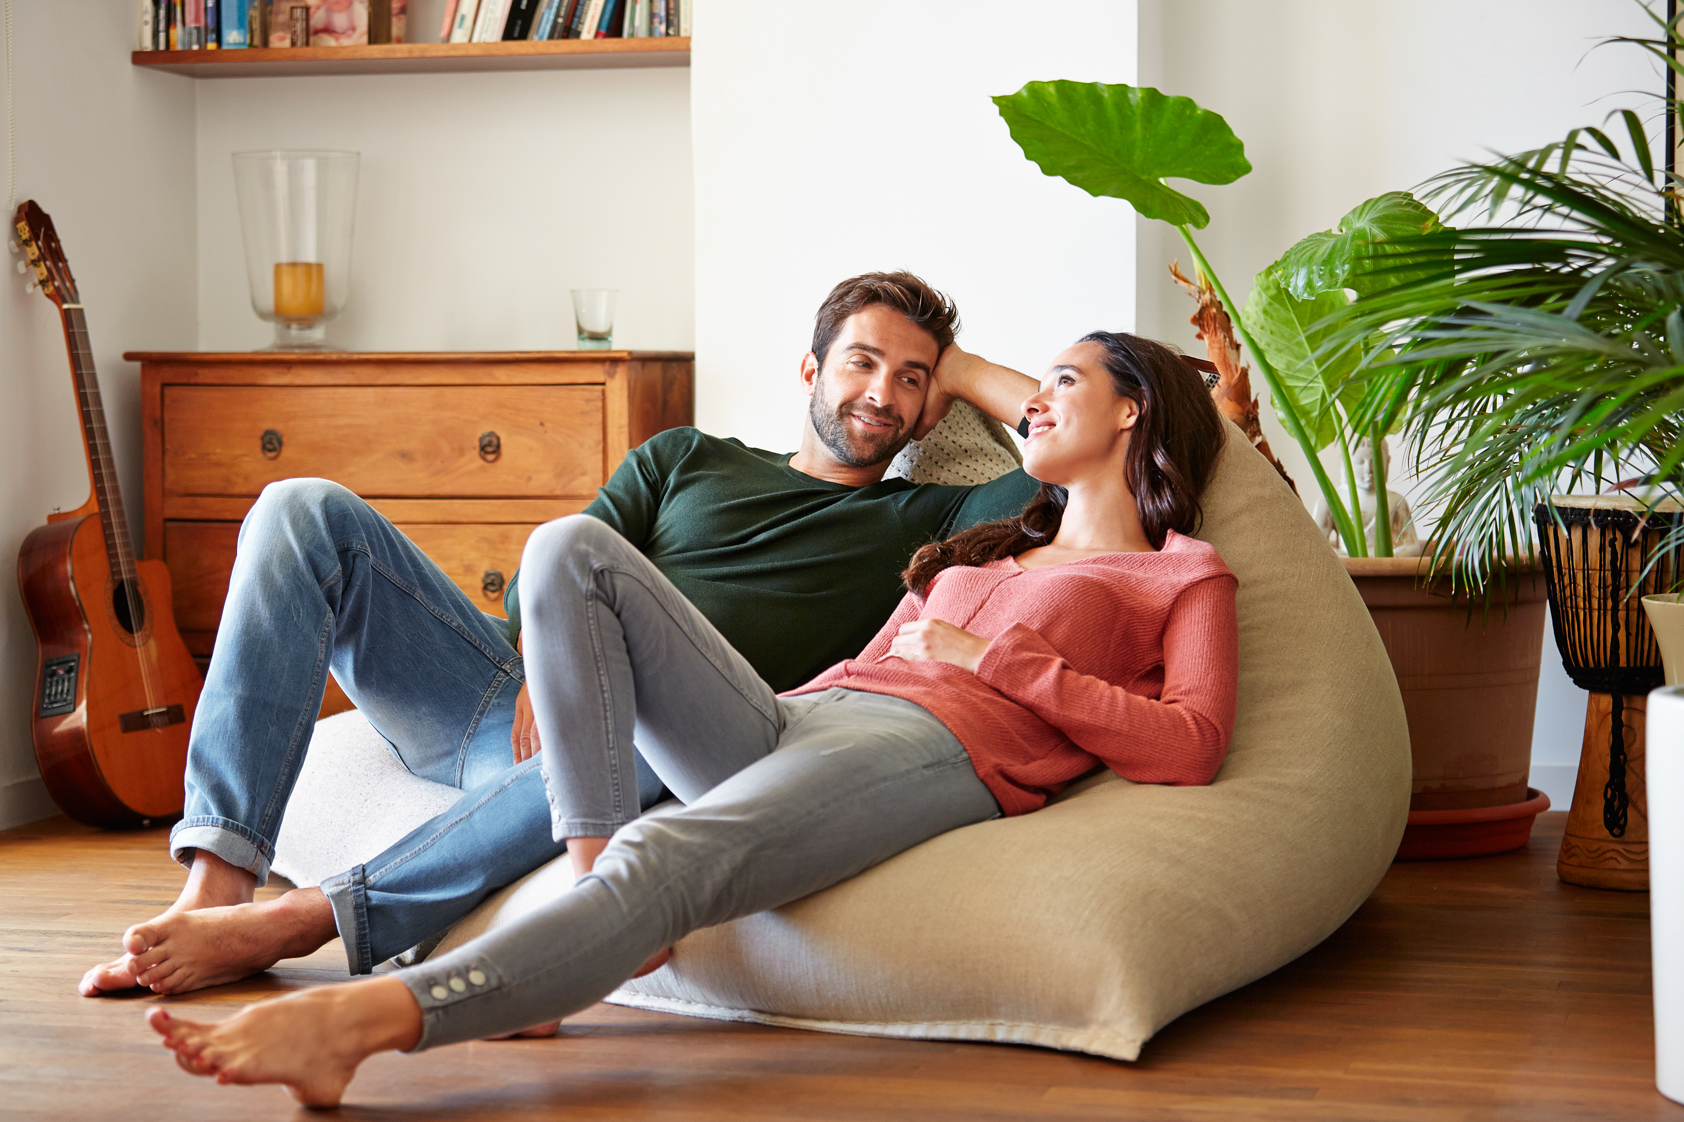
{"type": "MultiPolygon", "coordinates": [[[[1162,548],[1170,530],[1194,533],[1204,513],[1199,493],[1226,439],[1204,378],[1169,347],[1138,335],[1093,331],[1076,341],[1098,343],[1105,350],[1111,389],[1140,409],[1128,436],[1123,474],[1152,548],[1162,548]]],[[[945,542],[931,542],[913,553],[901,579],[914,594],[926,595],[930,582],[950,565],[985,565],[1046,545],[1058,535],[1068,501],[1064,488],[1042,483],[1021,516],[985,521],[945,542]]]]}

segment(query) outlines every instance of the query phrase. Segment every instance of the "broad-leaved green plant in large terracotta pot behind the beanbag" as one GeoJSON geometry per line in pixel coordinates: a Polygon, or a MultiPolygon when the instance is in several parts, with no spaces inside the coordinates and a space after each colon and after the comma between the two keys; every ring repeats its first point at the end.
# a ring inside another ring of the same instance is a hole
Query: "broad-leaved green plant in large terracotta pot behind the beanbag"
{"type": "MultiPolygon", "coordinates": [[[[1258,274],[1241,311],[1192,232],[1209,222],[1209,214],[1165,183],[1170,177],[1228,183],[1251,170],[1243,143],[1219,114],[1155,89],[1081,82],[1029,82],[995,98],[995,104],[1012,138],[1042,172],[1093,195],[1125,198],[1142,215],[1179,230],[1197,271],[1197,281],[1187,286],[1199,298],[1194,321],[1212,362],[1228,378],[1238,367],[1238,345],[1250,350],[1282,426],[1303,449],[1327,521],[1349,555],[1347,569],[1393,656],[1415,752],[1413,811],[1490,819],[1492,807],[1505,807],[1495,818],[1507,814],[1519,833],[1492,826],[1460,831],[1462,843],[1474,843],[1460,851],[1489,853],[1524,843],[1531,818],[1548,806],[1526,786],[1543,584],[1517,579],[1521,574],[1505,565],[1507,555],[1475,565],[1479,579],[1472,587],[1465,577],[1458,585],[1457,570],[1438,572],[1418,557],[1394,557],[1383,501],[1383,454],[1372,456],[1381,501],[1372,533],[1366,530],[1354,453],[1362,439],[1379,453],[1384,436],[1408,421],[1410,397],[1404,387],[1388,399],[1393,407],[1381,409],[1374,404],[1378,394],[1371,402],[1372,377],[1359,377],[1386,357],[1378,328],[1362,345],[1339,343],[1332,335],[1351,308],[1436,276],[1436,259],[1423,262],[1418,254],[1399,254],[1396,246],[1440,234],[1438,217],[1406,192],[1371,198],[1339,229],[1303,239],[1258,274]],[[1325,447],[1337,447],[1346,466],[1342,488],[1322,466],[1325,447]],[[1490,590],[1497,592],[1499,611],[1470,612],[1467,595],[1490,590]]],[[[1253,432],[1258,442],[1260,432],[1253,432]]],[[[1430,560],[1442,555],[1440,542],[1430,560]]],[[[1406,851],[1420,841],[1415,831],[1406,851]]],[[[1413,856],[1453,851],[1430,843],[1413,856]]]]}

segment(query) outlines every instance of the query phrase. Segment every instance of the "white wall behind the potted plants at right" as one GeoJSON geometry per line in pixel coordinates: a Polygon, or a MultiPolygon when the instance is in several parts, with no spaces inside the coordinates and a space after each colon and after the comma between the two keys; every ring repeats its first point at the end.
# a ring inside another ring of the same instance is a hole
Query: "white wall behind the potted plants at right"
{"type": "MultiPolygon", "coordinates": [[[[1140,82],[1216,109],[1246,143],[1251,175],[1186,187],[1211,210],[1196,234],[1201,247],[1229,296],[1244,301],[1260,269],[1364,198],[1408,190],[1462,158],[1603,124],[1617,108],[1652,106],[1633,93],[1660,91],[1640,54],[1591,49],[1652,27],[1632,0],[1140,0],[1140,82]]],[[[1187,326],[1192,303],[1165,273],[1172,259],[1187,264],[1179,236],[1140,220],[1138,246],[1140,330],[1202,355],[1187,326]]],[[[1308,464],[1275,422],[1261,378],[1253,389],[1270,446],[1314,496],[1308,464]]],[[[1337,479],[1332,453],[1324,456],[1337,479]]],[[[1532,784],[1561,809],[1583,725],[1585,693],[1546,634],[1532,784]]]]}

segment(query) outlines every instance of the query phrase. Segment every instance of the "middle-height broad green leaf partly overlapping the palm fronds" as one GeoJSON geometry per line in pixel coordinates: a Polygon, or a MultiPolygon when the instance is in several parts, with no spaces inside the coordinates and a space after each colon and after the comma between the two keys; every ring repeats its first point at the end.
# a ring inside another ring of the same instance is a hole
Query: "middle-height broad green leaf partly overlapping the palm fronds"
{"type": "Polygon", "coordinates": [[[1276,276],[1298,299],[1346,288],[1359,296],[1420,281],[1431,269],[1410,266],[1386,242],[1445,229],[1438,215],[1404,190],[1376,195],[1339,219],[1339,227],[1310,234],[1275,262],[1276,276]]]}

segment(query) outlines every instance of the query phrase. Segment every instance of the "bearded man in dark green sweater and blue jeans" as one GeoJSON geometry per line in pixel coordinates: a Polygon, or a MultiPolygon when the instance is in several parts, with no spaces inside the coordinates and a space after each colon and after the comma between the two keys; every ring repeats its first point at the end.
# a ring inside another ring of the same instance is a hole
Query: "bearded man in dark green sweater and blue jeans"
{"type": "MultiPolygon", "coordinates": [[[[882,479],[955,399],[1015,422],[1036,390],[955,347],[957,320],[906,273],[840,283],[802,360],[812,404],[797,453],[662,432],[586,513],[655,562],[775,690],[852,658],[894,611],[913,550],[1014,516],[1036,490],[1022,471],[977,488],[882,479]]],[[[561,853],[515,646],[517,582],[509,609],[505,631],[345,488],[266,488],[241,527],[170,834],[187,885],[81,992],[231,982],[335,935],[365,974],[561,853]],[[320,888],[256,905],[328,668],[414,774],[465,794],[320,888]]],[[[642,767],[637,796],[643,807],[660,796],[642,767]]]]}

